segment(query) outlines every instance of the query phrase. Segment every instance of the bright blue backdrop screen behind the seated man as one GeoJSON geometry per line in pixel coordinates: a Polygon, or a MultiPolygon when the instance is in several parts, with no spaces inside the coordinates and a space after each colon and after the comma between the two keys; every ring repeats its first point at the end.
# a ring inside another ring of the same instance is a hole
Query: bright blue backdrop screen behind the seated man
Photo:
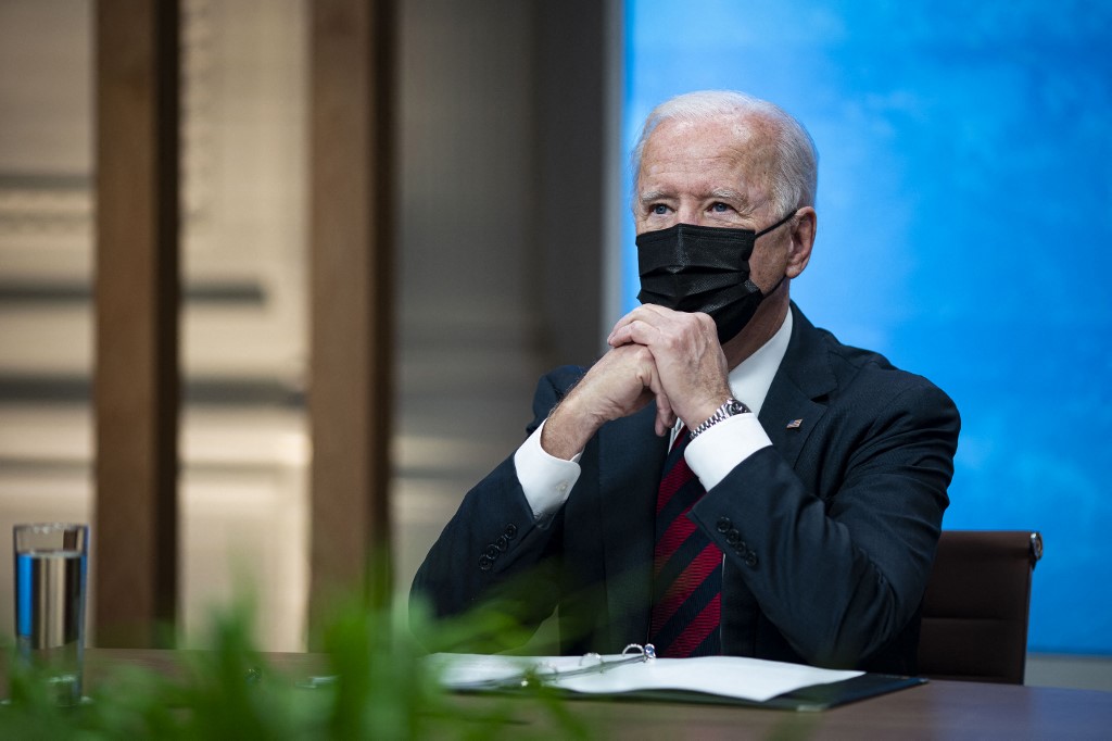
{"type": "Polygon", "coordinates": [[[818,237],[793,297],[957,403],[944,526],[1043,533],[1031,649],[1112,653],[1112,4],[627,0],[625,20],[627,152],[696,89],[808,128],[818,237]]]}

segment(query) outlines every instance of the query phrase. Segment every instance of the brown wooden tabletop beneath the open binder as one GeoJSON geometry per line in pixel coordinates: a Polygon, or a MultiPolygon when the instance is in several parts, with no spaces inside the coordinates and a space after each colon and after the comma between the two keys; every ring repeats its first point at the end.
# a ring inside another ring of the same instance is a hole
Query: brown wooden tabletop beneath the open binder
{"type": "MultiPolygon", "coordinates": [[[[89,649],[87,685],[113,666],[172,672],[172,651],[89,649]]],[[[267,654],[292,676],[325,671],[314,654],[267,654]]],[[[480,703],[466,695],[460,702],[480,703]]],[[[1112,739],[1112,692],[933,681],[822,712],[736,705],[573,700],[600,738],[653,739],[1112,739]]],[[[538,719],[537,723],[543,723],[538,719]]]]}

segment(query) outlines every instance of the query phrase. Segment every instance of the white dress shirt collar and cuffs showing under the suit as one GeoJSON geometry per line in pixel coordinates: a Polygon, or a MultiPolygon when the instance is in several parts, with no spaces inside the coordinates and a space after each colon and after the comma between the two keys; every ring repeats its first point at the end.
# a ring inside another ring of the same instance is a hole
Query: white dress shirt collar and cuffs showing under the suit
{"type": "MultiPolygon", "coordinates": [[[[687,445],[684,457],[698,476],[703,488],[713,488],[742,461],[772,445],[768,435],[757,422],[757,415],[764,405],[765,396],[768,395],[772,379],[784,359],[791,337],[792,313],[788,312],[787,318],[776,334],[729,372],[731,393],[751,412],[723,419],[687,445]]],[[[676,422],[672,431],[673,439],[681,423],[676,422]]],[[[540,447],[543,429],[542,423],[514,454],[517,480],[537,520],[550,516],[567,501],[572,487],[579,478],[582,455],[580,452],[570,461],[549,455],[540,447]]]]}

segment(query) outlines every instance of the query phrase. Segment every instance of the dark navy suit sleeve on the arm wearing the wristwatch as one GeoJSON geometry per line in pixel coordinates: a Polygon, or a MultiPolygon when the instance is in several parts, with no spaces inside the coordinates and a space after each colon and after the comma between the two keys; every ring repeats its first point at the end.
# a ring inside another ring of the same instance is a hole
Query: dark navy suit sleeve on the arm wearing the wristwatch
{"type": "Polygon", "coordinates": [[[917,376],[831,407],[795,470],[775,447],[693,508],[761,610],[805,661],[861,665],[915,615],[949,504],[959,416],[917,376]]]}

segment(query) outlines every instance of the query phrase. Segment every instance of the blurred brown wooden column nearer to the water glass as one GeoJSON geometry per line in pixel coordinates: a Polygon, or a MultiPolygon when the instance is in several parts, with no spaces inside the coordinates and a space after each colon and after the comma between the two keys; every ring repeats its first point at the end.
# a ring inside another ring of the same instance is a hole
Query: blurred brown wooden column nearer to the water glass
{"type": "Polygon", "coordinates": [[[176,0],[96,19],[96,641],[157,646],[177,612],[176,0]]]}

